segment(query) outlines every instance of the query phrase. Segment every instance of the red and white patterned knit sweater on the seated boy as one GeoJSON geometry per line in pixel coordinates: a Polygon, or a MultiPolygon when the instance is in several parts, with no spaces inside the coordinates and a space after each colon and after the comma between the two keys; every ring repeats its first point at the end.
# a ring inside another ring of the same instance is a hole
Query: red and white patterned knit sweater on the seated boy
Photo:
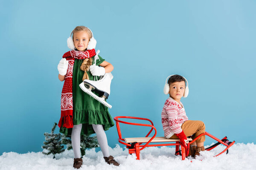
{"type": "Polygon", "coordinates": [[[164,103],[161,117],[164,136],[167,139],[182,132],[181,125],[188,120],[183,104],[180,105],[171,97],[164,103]]]}

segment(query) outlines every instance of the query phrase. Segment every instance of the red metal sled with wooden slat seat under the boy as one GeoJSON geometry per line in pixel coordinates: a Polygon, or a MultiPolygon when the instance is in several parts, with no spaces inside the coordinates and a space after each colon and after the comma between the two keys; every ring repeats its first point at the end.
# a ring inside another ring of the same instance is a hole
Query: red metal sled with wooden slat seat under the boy
{"type": "MultiPolygon", "coordinates": [[[[154,127],[154,124],[150,119],[140,118],[140,117],[131,117],[131,116],[116,116],[116,117],[114,117],[114,120],[116,121],[116,128],[117,128],[117,133],[118,133],[118,137],[119,137],[118,142],[126,145],[126,148],[128,148],[128,152],[130,154],[136,153],[138,160],[140,159],[140,151],[141,150],[143,150],[145,147],[154,147],[154,146],[176,146],[175,155],[180,154],[182,157],[182,160],[185,159],[185,148],[180,144],[180,140],[179,139],[166,139],[165,137],[156,137],[157,130],[154,127]],[[125,121],[119,120],[120,118],[146,120],[146,121],[150,122],[151,125],[150,124],[125,122],[125,121]],[[151,127],[151,130],[148,132],[148,134],[145,137],[124,138],[123,139],[119,123],[124,123],[124,124],[128,124],[128,125],[136,125],[136,126],[147,126],[147,127],[151,127]],[[153,130],[154,130],[154,135],[152,137],[148,137],[153,130]],[[162,142],[162,143],[166,142],[166,143],[150,144],[152,142],[162,142]],[[179,147],[181,149],[179,149],[179,147]]],[[[226,146],[226,148],[221,153],[219,153],[215,156],[219,156],[222,153],[224,153],[225,151],[227,151],[227,153],[228,153],[228,148],[230,148],[235,143],[235,141],[229,142],[227,140],[227,136],[225,136],[223,139],[220,140],[220,139],[216,138],[215,136],[211,135],[210,133],[205,132],[205,133],[202,133],[199,136],[197,136],[194,140],[192,140],[190,137],[188,137],[188,140],[190,141],[189,144],[192,144],[195,140],[197,140],[202,135],[207,135],[207,136],[211,137],[212,139],[215,139],[216,141],[218,141],[216,144],[213,144],[212,146],[206,148],[205,150],[212,150],[219,144],[224,144],[226,146]]]]}

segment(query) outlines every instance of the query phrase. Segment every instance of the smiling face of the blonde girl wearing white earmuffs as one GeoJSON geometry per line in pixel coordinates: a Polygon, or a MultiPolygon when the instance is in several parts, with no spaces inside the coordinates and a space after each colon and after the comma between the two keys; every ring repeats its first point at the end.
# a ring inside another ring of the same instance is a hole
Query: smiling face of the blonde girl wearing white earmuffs
{"type": "Polygon", "coordinates": [[[74,45],[79,51],[85,51],[90,40],[89,35],[86,31],[78,31],[73,34],[74,45]]]}

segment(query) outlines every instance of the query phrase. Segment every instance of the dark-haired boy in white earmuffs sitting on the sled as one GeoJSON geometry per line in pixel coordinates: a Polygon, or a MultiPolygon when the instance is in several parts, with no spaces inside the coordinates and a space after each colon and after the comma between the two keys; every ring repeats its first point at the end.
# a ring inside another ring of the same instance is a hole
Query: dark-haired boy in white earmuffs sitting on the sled
{"type": "Polygon", "coordinates": [[[201,133],[205,133],[204,122],[189,120],[186,116],[183,104],[180,102],[182,96],[187,97],[189,86],[187,80],[180,75],[171,75],[166,79],[164,94],[169,94],[162,110],[162,125],[164,136],[167,139],[180,139],[180,143],[189,150],[186,156],[198,156],[200,151],[204,151],[205,136],[201,136],[189,146],[186,136],[195,139],[201,133]],[[169,78],[170,77],[170,78],[169,78]]]}

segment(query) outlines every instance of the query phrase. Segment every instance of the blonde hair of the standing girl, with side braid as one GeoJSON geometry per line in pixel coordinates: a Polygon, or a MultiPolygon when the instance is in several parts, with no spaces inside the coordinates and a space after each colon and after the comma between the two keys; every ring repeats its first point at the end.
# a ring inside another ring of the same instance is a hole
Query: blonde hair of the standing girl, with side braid
{"type": "MultiPolygon", "coordinates": [[[[75,33],[75,32],[79,32],[79,31],[85,31],[85,32],[88,34],[88,36],[89,36],[90,39],[93,37],[93,34],[92,34],[92,32],[90,31],[89,28],[87,28],[87,27],[85,27],[85,26],[77,26],[77,27],[72,31],[72,33],[71,33],[71,34],[73,34],[73,36],[72,36],[73,41],[74,41],[74,33],[75,33]]],[[[81,66],[80,66],[80,69],[81,69],[82,71],[84,71],[84,76],[83,76],[83,78],[82,78],[82,81],[84,81],[84,79],[89,79],[89,76],[88,76],[88,74],[87,74],[87,71],[89,71],[90,65],[92,65],[92,58],[87,58],[87,59],[84,59],[84,60],[83,60],[81,66]]]]}

